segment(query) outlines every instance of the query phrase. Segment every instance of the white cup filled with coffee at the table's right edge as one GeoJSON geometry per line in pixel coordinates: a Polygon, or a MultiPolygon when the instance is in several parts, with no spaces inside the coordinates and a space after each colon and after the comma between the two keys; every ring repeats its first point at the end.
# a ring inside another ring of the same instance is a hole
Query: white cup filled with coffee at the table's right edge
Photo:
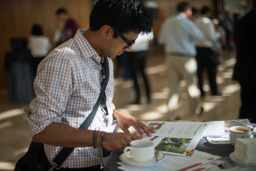
{"type": "Polygon", "coordinates": [[[250,138],[251,129],[245,126],[233,126],[229,128],[229,141],[231,145],[235,145],[237,138],[250,138]]]}

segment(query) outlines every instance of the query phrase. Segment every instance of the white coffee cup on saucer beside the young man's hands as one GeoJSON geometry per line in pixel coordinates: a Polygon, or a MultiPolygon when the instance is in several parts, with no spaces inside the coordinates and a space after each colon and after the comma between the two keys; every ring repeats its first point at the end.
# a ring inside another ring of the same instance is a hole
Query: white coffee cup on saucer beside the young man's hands
{"type": "Polygon", "coordinates": [[[143,163],[154,158],[154,144],[153,141],[137,140],[131,141],[130,147],[126,147],[124,154],[134,161],[143,163]],[[128,152],[128,150],[130,150],[128,152]]]}

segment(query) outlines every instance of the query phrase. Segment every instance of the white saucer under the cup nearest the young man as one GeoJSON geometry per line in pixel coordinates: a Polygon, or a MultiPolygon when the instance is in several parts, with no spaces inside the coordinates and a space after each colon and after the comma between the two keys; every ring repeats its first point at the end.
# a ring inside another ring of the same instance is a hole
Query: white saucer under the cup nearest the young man
{"type": "MultiPolygon", "coordinates": [[[[145,162],[145,163],[140,163],[140,162],[134,161],[132,158],[128,158],[124,153],[122,153],[119,158],[120,158],[121,161],[123,161],[127,164],[130,164],[130,165],[137,165],[137,166],[154,165],[154,158],[150,161],[145,162]]],[[[164,158],[164,154],[159,151],[159,155],[157,157],[157,163],[163,161],[163,158],[164,158]]]]}

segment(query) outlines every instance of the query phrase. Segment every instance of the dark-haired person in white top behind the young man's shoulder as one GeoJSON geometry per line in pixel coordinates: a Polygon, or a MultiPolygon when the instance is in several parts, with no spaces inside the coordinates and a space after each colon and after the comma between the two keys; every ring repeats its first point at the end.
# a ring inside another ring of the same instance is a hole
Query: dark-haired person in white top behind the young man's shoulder
{"type": "Polygon", "coordinates": [[[49,38],[43,36],[43,31],[38,24],[34,24],[32,27],[29,48],[32,56],[31,67],[36,74],[38,65],[51,50],[49,38]]]}

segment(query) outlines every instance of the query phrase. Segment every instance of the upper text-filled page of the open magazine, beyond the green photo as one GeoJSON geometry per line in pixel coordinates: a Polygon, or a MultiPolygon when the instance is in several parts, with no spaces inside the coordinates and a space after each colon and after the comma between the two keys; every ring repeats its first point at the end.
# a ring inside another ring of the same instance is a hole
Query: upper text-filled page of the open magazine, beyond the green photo
{"type": "Polygon", "coordinates": [[[168,136],[175,138],[196,138],[201,139],[207,128],[206,123],[199,122],[148,122],[147,125],[156,133],[155,136],[168,136]]]}

